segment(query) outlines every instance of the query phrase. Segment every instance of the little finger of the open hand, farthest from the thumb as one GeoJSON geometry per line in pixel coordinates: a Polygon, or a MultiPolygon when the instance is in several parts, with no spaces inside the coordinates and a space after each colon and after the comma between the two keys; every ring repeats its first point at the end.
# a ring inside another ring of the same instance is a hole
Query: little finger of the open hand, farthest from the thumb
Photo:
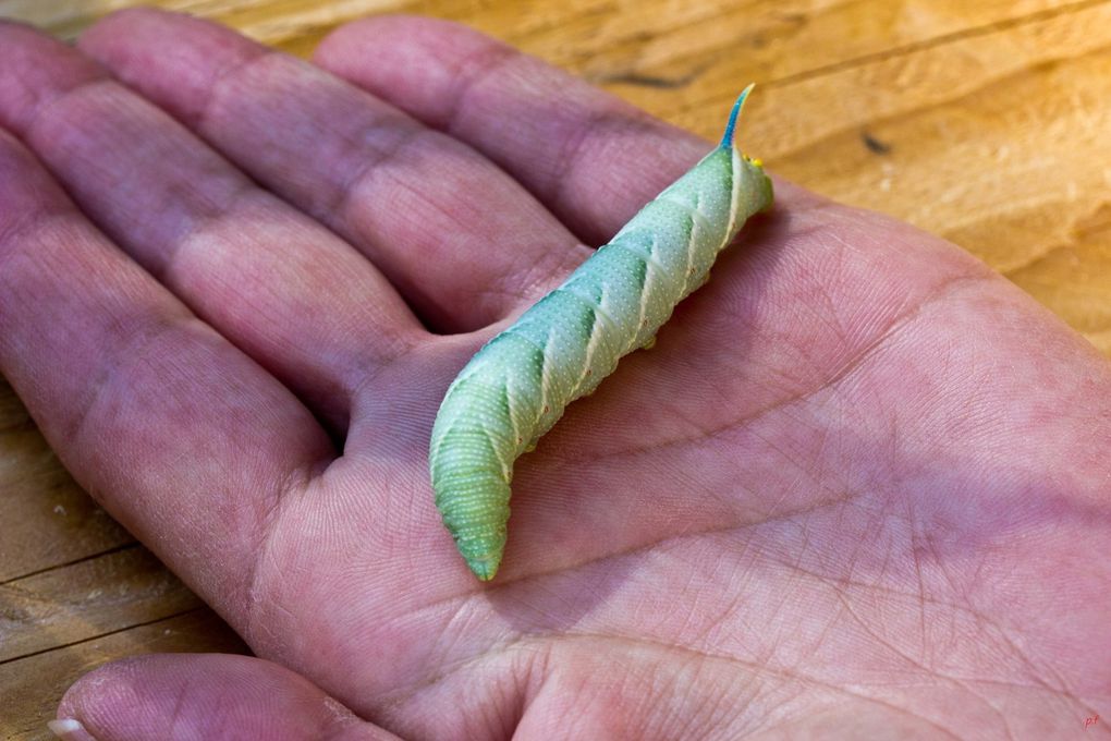
{"type": "MultiPolygon", "coordinates": [[[[320,43],[313,61],[481,151],[588,243],[609,240],[711,146],[449,21],[388,16],[349,23],[320,43]]],[[[729,103],[722,101],[722,117],[729,103]]],[[[781,202],[820,200],[781,180],[775,188],[781,202]]]]}

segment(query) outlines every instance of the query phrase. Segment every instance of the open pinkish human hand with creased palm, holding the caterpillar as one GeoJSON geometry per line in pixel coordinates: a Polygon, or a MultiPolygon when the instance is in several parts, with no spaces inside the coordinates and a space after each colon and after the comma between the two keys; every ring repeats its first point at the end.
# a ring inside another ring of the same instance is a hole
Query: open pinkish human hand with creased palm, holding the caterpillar
{"type": "Polygon", "coordinates": [[[154,11],[0,48],[0,369],[260,657],[98,670],[59,709],[97,739],[1111,715],[1111,370],[961,250],[778,182],[519,462],[480,585],[429,490],[444,389],[710,144],[431,20],[313,64],[154,11]]]}

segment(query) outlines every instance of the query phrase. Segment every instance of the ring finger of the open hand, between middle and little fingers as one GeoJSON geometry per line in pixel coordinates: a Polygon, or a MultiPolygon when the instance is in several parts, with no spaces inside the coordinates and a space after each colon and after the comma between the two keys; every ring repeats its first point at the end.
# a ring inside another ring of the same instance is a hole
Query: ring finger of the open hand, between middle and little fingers
{"type": "Polygon", "coordinates": [[[80,46],[356,244],[436,329],[503,319],[589,254],[466,144],[226,28],[131,10],[80,46]]]}

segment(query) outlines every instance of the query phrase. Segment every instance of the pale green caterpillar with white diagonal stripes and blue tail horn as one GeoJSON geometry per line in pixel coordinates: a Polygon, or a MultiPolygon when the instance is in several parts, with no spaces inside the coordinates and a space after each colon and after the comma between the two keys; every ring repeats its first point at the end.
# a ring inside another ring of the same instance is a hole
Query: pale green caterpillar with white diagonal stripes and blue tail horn
{"type": "Polygon", "coordinates": [[[479,579],[492,579],[501,562],[513,461],[622,356],[650,346],[744,221],[771,206],[760,161],[733,147],[751,89],[738,98],[717,149],[487,342],[448,388],[429,468],[443,523],[479,579]]]}

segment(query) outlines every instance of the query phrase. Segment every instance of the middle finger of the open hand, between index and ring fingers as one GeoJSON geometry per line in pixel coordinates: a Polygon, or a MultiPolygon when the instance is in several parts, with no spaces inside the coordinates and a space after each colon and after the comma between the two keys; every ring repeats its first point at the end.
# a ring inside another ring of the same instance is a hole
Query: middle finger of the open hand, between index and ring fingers
{"type": "Polygon", "coordinates": [[[0,28],[0,123],[199,317],[337,429],[369,368],[423,334],[361,254],[78,51],[0,28]]]}

